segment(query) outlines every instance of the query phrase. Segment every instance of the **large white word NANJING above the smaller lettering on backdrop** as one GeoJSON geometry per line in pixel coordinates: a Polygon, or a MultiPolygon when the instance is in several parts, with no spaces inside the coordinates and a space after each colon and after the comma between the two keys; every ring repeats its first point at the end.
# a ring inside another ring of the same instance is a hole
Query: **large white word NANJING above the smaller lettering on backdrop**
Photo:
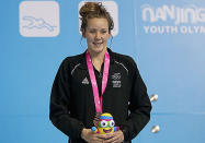
{"type": "Polygon", "coordinates": [[[162,5],[152,8],[148,4],[141,7],[141,16],[145,22],[158,22],[172,20],[176,25],[186,23],[205,23],[205,9],[191,5],[180,8],[175,5],[162,5]]]}

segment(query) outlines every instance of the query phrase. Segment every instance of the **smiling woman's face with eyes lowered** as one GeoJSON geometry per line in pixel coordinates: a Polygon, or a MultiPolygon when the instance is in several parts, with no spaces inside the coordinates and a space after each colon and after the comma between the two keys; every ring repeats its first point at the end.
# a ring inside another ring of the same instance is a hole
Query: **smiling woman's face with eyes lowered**
{"type": "Polygon", "coordinates": [[[107,20],[103,17],[89,19],[83,36],[87,38],[88,48],[91,52],[100,53],[105,50],[107,39],[111,36],[107,20]]]}

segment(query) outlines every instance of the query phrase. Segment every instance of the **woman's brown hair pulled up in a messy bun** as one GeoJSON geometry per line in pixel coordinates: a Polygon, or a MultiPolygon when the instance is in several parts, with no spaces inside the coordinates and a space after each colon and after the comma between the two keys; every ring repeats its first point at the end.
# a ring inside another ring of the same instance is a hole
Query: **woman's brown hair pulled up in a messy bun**
{"type": "Polygon", "coordinates": [[[109,23],[109,33],[114,27],[113,19],[101,2],[86,2],[79,11],[81,17],[81,32],[86,32],[88,20],[93,17],[104,17],[109,23]]]}

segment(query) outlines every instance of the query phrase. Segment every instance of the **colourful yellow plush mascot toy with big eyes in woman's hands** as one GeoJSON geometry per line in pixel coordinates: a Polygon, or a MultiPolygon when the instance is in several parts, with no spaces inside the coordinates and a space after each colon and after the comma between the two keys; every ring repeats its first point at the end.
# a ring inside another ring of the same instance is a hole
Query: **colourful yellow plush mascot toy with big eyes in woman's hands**
{"type": "Polygon", "coordinates": [[[118,127],[115,127],[115,122],[111,114],[102,114],[99,118],[98,127],[92,127],[92,132],[100,134],[107,134],[114,131],[118,131],[118,127]]]}

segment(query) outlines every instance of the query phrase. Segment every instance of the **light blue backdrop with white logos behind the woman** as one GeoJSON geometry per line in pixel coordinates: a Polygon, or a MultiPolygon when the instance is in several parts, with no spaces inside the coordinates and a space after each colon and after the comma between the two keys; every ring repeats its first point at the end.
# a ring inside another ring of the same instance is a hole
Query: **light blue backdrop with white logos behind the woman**
{"type": "MultiPolygon", "coordinates": [[[[67,142],[48,119],[49,94],[61,60],[86,50],[80,2],[1,0],[1,143],[67,142]]],[[[117,8],[118,25],[111,48],[132,56],[149,95],[159,95],[150,122],[134,142],[203,143],[205,1],[110,2],[117,8]],[[157,124],[160,131],[151,133],[157,124]]]]}

